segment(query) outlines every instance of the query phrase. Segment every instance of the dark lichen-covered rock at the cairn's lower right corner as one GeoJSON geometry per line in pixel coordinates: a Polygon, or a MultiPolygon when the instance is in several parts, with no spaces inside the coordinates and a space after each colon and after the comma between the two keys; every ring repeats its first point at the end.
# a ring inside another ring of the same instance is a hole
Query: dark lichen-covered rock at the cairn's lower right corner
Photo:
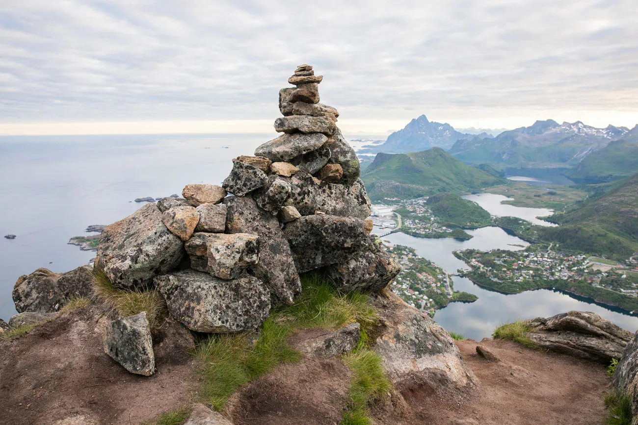
{"type": "Polygon", "coordinates": [[[401,264],[383,250],[360,252],[344,263],[332,264],[326,273],[341,292],[376,292],[401,272],[401,264]]]}

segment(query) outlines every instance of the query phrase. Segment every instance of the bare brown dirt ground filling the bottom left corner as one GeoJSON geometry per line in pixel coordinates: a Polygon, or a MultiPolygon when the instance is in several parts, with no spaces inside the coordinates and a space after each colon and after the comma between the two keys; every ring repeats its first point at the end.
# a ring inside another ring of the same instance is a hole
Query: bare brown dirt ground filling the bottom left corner
{"type": "Polygon", "coordinates": [[[0,341],[0,424],[138,424],[188,403],[193,359],[156,358],[151,377],[128,373],[104,354],[103,312],[65,313],[31,333],[0,341]]]}

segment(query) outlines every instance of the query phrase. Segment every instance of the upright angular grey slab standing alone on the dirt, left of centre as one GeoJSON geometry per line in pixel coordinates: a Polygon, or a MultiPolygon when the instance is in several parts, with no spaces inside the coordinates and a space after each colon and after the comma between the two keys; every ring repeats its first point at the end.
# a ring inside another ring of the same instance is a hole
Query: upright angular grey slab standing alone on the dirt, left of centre
{"type": "Polygon", "coordinates": [[[155,371],[151,326],[146,312],[110,322],[102,340],[104,352],[124,369],[147,377],[155,371]]]}

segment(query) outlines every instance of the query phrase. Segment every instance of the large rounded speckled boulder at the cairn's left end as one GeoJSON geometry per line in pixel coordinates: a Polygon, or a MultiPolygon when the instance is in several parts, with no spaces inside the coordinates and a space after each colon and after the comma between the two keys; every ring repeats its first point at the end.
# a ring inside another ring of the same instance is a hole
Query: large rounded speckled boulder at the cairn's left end
{"type": "Polygon", "coordinates": [[[147,204],[104,229],[95,264],[116,287],[147,287],[183,256],[182,240],[163,224],[158,207],[147,204]]]}

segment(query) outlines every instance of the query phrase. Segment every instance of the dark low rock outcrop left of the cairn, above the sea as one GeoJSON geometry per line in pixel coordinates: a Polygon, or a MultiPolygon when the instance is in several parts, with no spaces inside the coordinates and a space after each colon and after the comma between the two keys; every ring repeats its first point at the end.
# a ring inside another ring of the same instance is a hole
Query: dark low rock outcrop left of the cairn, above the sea
{"type": "Polygon", "coordinates": [[[18,312],[57,312],[71,298],[91,296],[93,269],[81,266],[66,273],[39,268],[20,276],[13,287],[13,302],[18,312]]]}

